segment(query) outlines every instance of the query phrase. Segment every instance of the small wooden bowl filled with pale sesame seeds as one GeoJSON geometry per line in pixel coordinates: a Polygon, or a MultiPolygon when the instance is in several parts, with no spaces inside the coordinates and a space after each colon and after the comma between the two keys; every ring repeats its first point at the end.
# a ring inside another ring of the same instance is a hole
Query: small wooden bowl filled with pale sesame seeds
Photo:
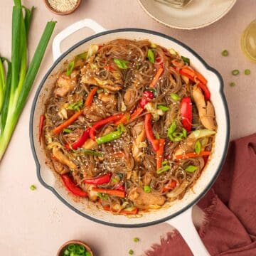
{"type": "Polygon", "coordinates": [[[72,14],[81,4],[81,0],[43,0],[46,7],[58,15],[72,14]]]}

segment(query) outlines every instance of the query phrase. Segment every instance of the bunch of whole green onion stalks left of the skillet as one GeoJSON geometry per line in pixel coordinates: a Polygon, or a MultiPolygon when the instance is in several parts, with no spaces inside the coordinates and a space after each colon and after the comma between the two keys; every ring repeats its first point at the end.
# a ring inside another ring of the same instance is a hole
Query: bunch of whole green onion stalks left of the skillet
{"type": "Polygon", "coordinates": [[[33,17],[33,9],[33,7],[27,9],[22,6],[21,0],[14,0],[11,62],[4,57],[0,57],[0,161],[26,104],[56,23],[55,21],[49,21],[46,24],[31,63],[28,65],[28,31],[33,17]]]}

